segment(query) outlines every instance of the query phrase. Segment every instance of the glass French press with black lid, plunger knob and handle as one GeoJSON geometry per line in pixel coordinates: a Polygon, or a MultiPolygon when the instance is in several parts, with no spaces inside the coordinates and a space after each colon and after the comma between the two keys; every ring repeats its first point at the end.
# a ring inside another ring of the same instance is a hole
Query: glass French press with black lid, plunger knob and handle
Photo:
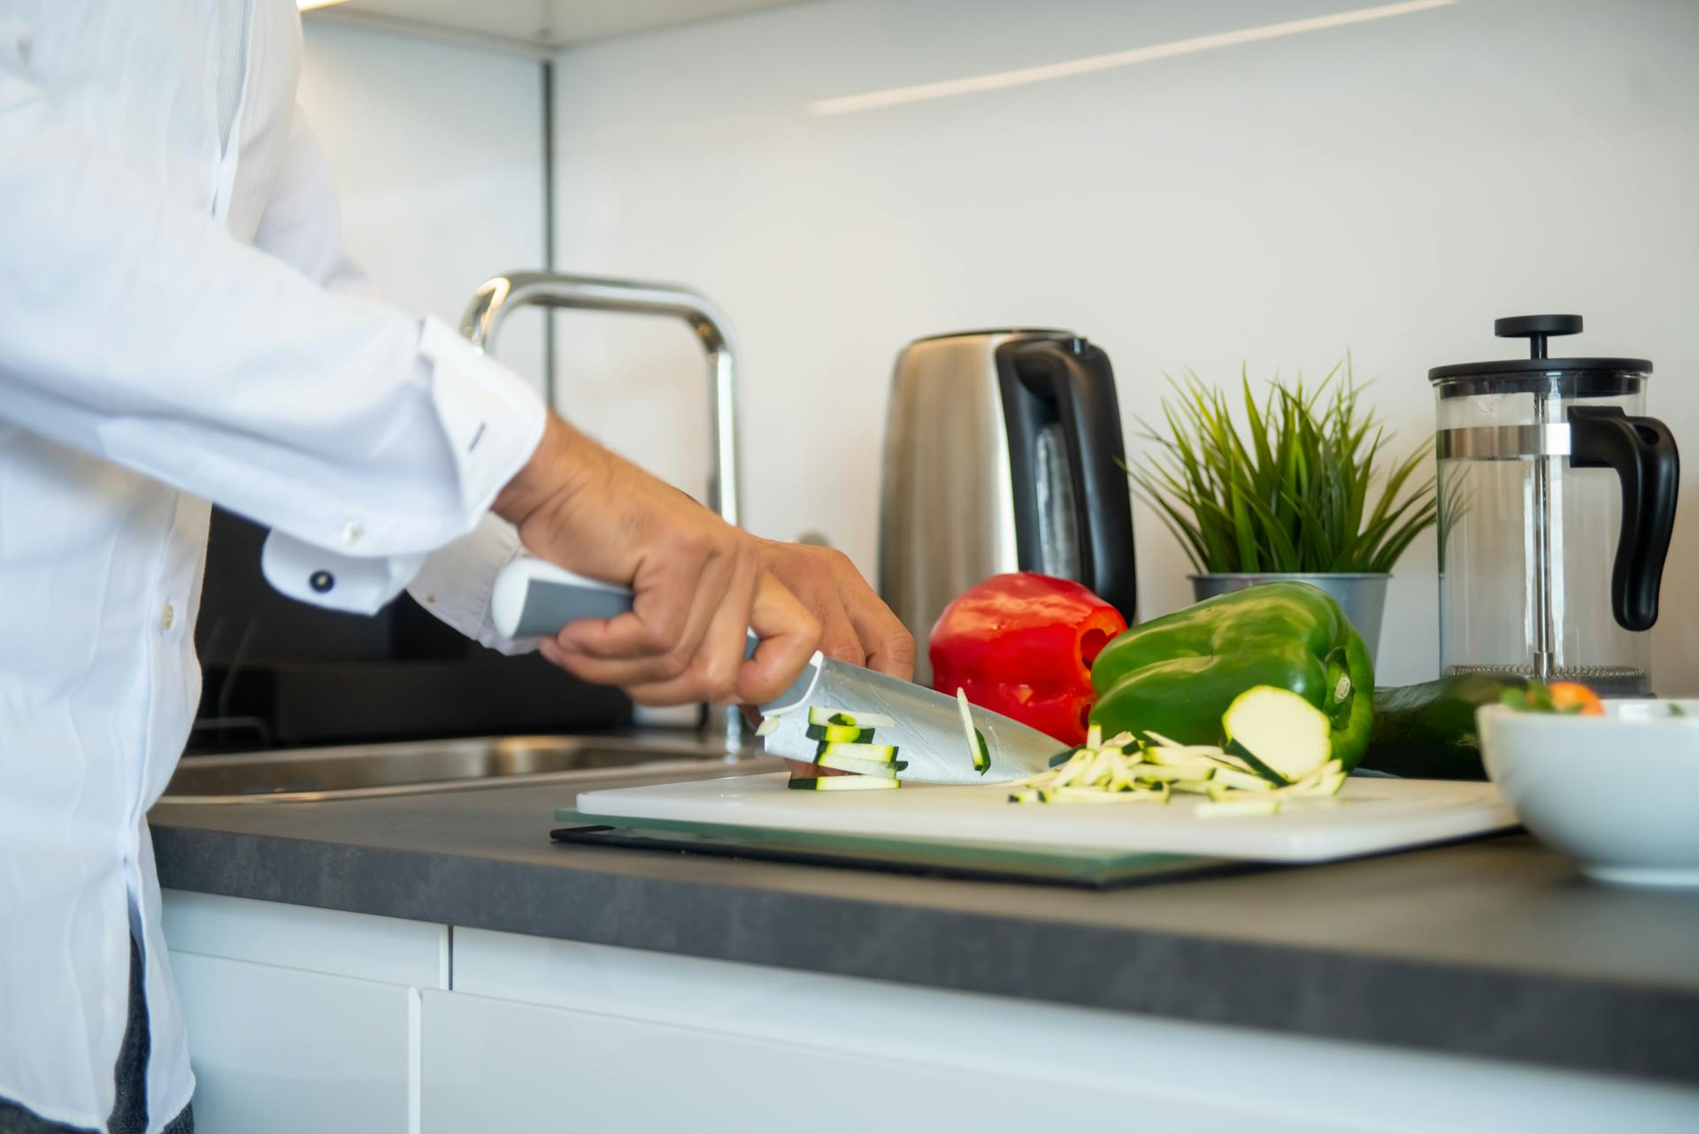
{"type": "Polygon", "coordinates": [[[1645,414],[1645,358],[1548,358],[1580,316],[1499,319],[1527,358],[1427,372],[1439,402],[1439,662],[1446,674],[1651,693],[1680,460],[1645,414]]]}

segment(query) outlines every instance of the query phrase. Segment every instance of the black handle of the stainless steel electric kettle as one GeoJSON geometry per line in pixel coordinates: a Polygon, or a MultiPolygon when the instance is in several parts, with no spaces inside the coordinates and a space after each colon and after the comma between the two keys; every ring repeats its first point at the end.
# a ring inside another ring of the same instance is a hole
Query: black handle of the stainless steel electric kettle
{"type": "Polygon", "coordinates": [[[1055,407],[1065,436],[1069,479],[1077,506],[1081,579],[1098,598],[1121,611],[1128,625],[1138,598],[1133,574],[1133,504],[1126,487],[1121,407],[1115,396],[1109,356],[1082,338],[1014,340],[997,348],[1009,463],[1016,484],[1016,548],[1021,569],[1033,570],[1035,508],[1023,484],[1033,477],[1040,406],[1055,407]]]}

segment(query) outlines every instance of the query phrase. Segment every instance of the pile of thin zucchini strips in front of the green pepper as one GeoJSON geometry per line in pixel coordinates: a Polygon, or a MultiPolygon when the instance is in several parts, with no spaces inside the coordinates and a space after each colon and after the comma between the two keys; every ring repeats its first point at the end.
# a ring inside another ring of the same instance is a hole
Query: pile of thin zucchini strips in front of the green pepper
{"type": "Polygon", "coordinates": [[[1291,800],[1329,800],[1346,783],[1339,761],[1288,779],[1267,766],[1208,744],[1179,744],[1147,732],[1108,740],[1092,725],[1086,744],[1062,754],[1048,772],[1023,779],[1009,803],[1172,803],[1191,798],[1193,815],[1274,815],[1291,800]]]}

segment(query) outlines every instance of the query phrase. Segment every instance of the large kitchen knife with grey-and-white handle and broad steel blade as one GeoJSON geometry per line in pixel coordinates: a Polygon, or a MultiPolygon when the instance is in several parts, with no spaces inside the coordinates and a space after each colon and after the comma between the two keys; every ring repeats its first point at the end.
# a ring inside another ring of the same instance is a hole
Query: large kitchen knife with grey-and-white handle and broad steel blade
{"type": "MultiPolygon", "coordinates": [[[[489,618],[506,638],[549,637],[579,618],[613,618],[632,608],[627,587],[584,579],[540,559],[516,559],[496,575],[489,618]]],[[[749,652],[758,638],[751,632],[749,652]]],[[[897,745],[907,767],[897,779],[934,784],[991,784],[1024,779],[1045,771],[1064,745],[1018,720],[968,706],[974,727],[985,737],[991,767],[974,769],[974,754],[962,728],[957,699],[911,681],[838,662],[819,652],[782,694],[758,706],[763,718],[778,718],[763,737],[766,750],[812,762],[819,744],[809,732],[809,708],[878,713],[894,720],[880,725],[878,744],[897,745]],[[797,711],[802,710],[802,711],[797,711]]]]}

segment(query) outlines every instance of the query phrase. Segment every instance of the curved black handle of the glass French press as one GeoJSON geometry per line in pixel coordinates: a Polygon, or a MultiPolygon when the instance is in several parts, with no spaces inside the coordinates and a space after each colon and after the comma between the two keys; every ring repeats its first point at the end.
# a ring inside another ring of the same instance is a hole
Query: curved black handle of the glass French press
{"type": "Polygon", "coordinates": [[[1570,406],[1568,413],[1570,465],[1616,469],[1623,484],[1611,611],[1624,630],[1651,630],[1682,479],[1675,438],[1657,418],[1629,418],[1621,406],[1570,406]]]}

